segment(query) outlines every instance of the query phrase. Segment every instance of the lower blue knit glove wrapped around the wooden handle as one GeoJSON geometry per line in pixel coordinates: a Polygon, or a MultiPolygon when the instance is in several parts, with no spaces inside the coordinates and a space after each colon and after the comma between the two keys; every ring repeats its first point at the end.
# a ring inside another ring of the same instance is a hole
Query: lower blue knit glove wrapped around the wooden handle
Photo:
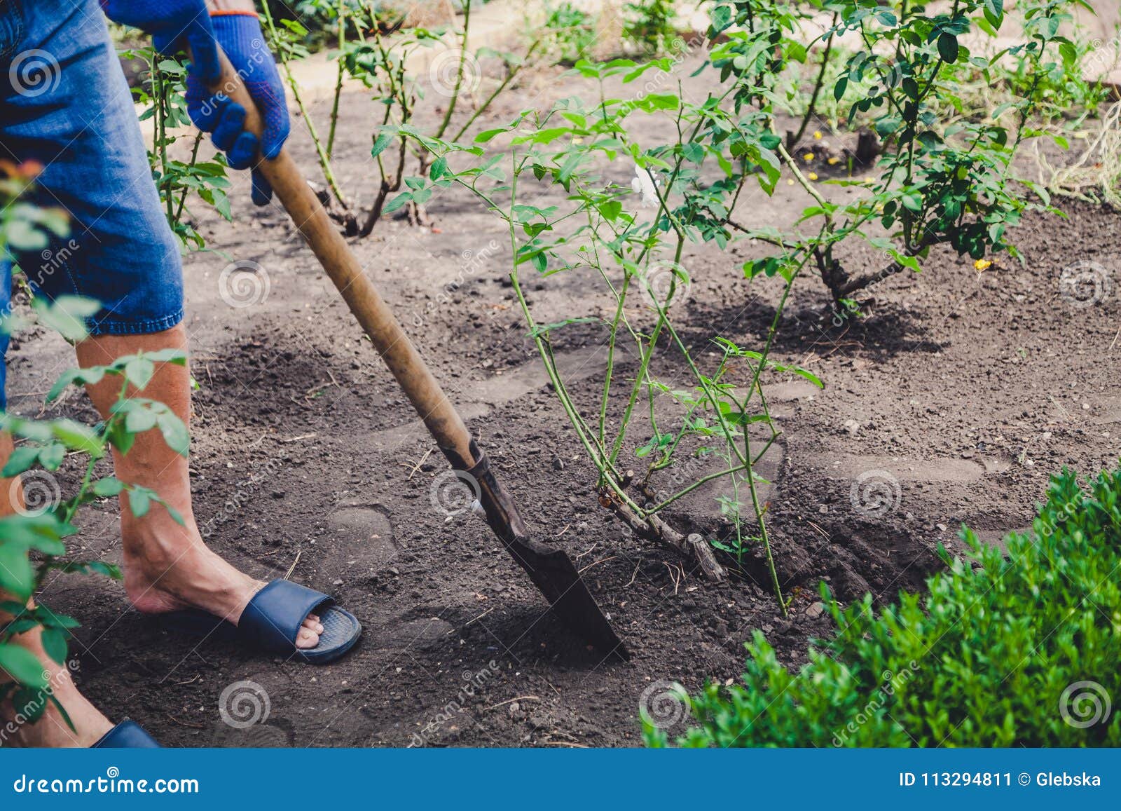
{"type": "MultiPolygon", "coordinates": [[[[198,129],[213,133],[214,146],[226,154],[231,167],[245,169],[256,164],[258,146],[261,155],[271,160],[280,155],[288,138],[284,85],[256,15],[217,13],[211,18],[211,25],[219,45],[256,102],[265,132],[258,144],[257,136],[244,130],[245,109],[225,95],[212,95],[202,71],[187,74],[187,114],[198,129]]],[[[252,181],[253,202],[265,205],[272,199],[272,186],[256,166],[252,181]]]]}

